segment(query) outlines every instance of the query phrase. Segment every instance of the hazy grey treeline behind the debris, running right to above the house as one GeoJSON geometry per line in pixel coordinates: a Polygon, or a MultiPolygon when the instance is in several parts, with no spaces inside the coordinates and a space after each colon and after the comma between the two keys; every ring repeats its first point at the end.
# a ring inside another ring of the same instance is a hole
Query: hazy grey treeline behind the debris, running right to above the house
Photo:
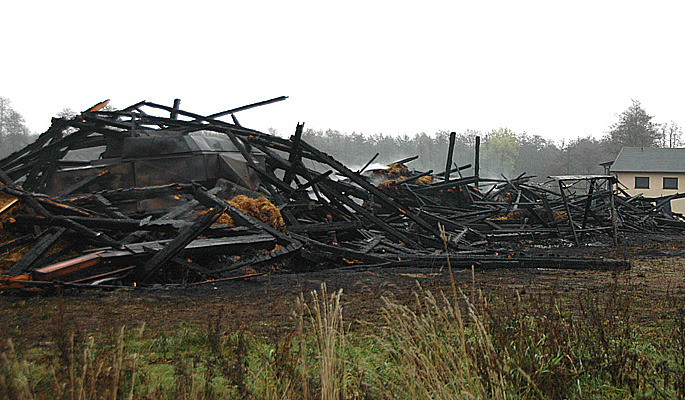
{"type": "MultiPolygon", "coordinates": [[[[390,136],[335,130],[305,130],[303,138],[311,145],[350,166],[363,166],[376,153],[376,162],[391,163],[418,155],[410,168],[434,172],[445,170],[450,133],[390,136]]],[[[507,178],[521,173],[545,179],[550,175],[602,174],[600,163],[613,161],[624,146],[678,147],[682,129],[674,122],[652,122],[638,101],[619,115],[617,123],[601,138],[593,136],[553,141],[539,135],[515,133],[507,128],[490,132],[467,130],[456,135],[453,162],[458,166],[474,163],[475,138],[480,136],[480,175],[507,178]]],[[[464,171],[472,174],[473,169],[464,171]]]]}

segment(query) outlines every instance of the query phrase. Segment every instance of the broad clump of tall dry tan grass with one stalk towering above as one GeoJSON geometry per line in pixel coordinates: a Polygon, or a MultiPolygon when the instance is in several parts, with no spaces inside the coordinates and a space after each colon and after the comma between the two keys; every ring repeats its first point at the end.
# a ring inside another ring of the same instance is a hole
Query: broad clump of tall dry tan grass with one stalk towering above
{"type": "MultiPolygon", "coordinates": [[[[447,250],[449,238],[442,227],[440,231],[447,250]]],[[[420,285],[414,293],[414,309],[383,298],[388,353],[399,368],[394,389],[415,399],[505,399],[502,361],[476,307],[457,289],[447,261],[451,298],[442,292],[435,296],[420,285]],[[460,299],[467,304],[469,327],[460,299]],[[474,350],[481,356],[472,354],[474,350]],[[478,365],[479,359],[484,365],[478,365]]]]}

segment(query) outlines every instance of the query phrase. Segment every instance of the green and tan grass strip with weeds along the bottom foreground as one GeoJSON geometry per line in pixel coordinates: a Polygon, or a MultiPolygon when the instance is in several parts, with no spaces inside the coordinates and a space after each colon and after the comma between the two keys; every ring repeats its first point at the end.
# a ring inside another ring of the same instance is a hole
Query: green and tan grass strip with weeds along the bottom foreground
{"type": "Polygon", "coordinates": [[[57,310],[47,343],[0,344],[0,399],[683,399],[685,311],[649,325],[630,290],[432,293],[386,298],[374,323],[342,318],[342,291],[293,299],[277,339],[228,331],[217,312],[173,333],[92,336],[57,310]]]}

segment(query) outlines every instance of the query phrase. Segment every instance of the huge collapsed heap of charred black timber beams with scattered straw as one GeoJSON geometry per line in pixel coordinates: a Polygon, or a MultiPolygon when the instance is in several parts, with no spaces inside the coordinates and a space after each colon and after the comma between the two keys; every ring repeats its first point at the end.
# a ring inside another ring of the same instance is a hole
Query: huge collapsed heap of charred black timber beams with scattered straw
{"type": "MultiPolygon", "coordinates": [[[[353,171],[302,140],[140,102],[55,118],[0,161],[0,285],[202,284],[274,270],[369,267],[629,267],[534,253],[615,245],[620,232],[681,233],[669,200],[630,197],[605,175],[479,177],[453,163],[353,171]],[[465,176],[465,172],[471,173],[465,176]],[[549,185],[549,183],[553,185],[549,185]],[[522,250],[523,249],[523,250],[522,250]]],[[[232,122],[220,120],[231,116],[232,122]]],[[[374,157],[375,159],[375,157],[374,157]]]]}

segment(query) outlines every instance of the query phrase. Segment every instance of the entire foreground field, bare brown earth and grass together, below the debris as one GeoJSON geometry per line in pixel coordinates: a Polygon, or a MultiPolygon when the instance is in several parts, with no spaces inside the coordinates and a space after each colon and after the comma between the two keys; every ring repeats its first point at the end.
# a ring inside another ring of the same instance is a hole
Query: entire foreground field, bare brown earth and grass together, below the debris
{"type": "Polygon", "coordinates": [[[4,294],[0,398],[682,399],[684,249],[556,250],[633,263],[618,272],[273,271],[4,294]]]}

